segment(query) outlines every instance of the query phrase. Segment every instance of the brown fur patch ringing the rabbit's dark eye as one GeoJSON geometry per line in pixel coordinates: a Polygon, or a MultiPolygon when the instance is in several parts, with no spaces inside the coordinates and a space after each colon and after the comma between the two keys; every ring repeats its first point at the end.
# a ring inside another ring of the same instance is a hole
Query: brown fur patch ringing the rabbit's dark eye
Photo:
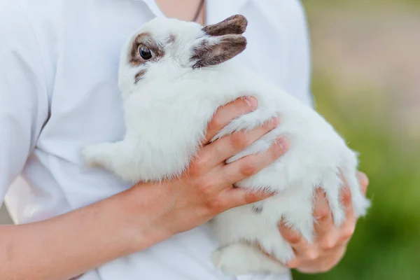
{"type": "Polygon", "coordinates": [[[162,57],[165,56],[165,49],[160,43],[157,43],[153,40],[151,34],[145,32],[139,34],[132,43],[131,52],[129,54],[129,62],[132,66],[139,66],[141,64],[145,64],[146,62],[156,62],[162,57]],[[141,57],[140,50],[144,48],[144,50],[151,51],[151,58],[144,59],[141,57]]]}

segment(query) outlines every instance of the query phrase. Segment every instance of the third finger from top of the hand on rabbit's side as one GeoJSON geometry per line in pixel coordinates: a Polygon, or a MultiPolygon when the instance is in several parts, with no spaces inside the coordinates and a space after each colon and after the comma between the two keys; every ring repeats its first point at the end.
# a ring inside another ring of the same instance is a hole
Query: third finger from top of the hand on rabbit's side
{"type": "Polygon", "coordinates": [[[224,181],[232,184],[244,180],[260,172],[274,160],[280,158],[288,150],[288,140],[280,137],[265,153],[248,155],[224,167],[224,181]]]}

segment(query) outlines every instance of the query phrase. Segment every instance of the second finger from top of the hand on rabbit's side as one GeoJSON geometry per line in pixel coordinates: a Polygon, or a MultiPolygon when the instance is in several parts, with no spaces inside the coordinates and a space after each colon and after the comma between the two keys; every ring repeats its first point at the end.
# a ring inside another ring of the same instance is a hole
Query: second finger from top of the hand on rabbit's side
{"type": "Polygon", "coordinates": [[[214,143],[204,146],[200,152],[200,156],[207,158],[207,165],[216,166],[253,144],[253,142],[277,127],[278,124],[279,119],[272,118],[262,126],[255,127],[253,130],[241,130],[226,135],[214,141],[214,143]]]}

